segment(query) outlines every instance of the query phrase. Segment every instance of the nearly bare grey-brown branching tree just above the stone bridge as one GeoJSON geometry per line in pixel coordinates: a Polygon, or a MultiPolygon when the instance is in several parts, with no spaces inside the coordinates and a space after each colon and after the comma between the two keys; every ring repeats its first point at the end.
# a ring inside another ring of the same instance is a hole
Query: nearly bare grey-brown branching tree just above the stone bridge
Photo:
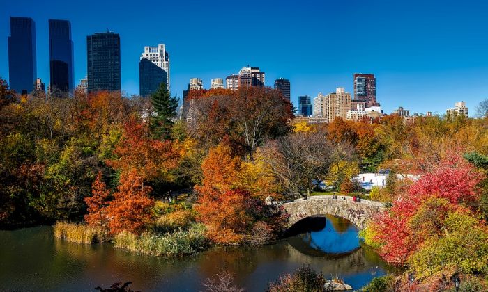
{"type": "Polygon", "coordinates": [[[314,180],[326,179],[335,159],[350,156],[344,149],[320,134],[299,132],[270,141],[262,153],[285,190],[305,197],[314,188],[314,180]]]}

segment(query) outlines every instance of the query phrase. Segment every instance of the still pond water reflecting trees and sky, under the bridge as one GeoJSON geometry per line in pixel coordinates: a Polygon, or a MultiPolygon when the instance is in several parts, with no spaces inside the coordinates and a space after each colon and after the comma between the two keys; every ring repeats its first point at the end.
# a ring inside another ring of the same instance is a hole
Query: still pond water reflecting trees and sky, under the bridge
{"type": "Polygon", "coordinates": [[[212,248],[176,259],[132,254],[109,243],[68,243],[54,238],[51,227],[0,231],[0,291],[93,291],[128,281],[141,291],[200,291],[201,282],[222,269],[247,291],[264,291],[268,282],[303,265],[358,289],[390,270],[361,245],[347,220],[305,219],[300,229],[305,233],[259,248],[212,248]]]}

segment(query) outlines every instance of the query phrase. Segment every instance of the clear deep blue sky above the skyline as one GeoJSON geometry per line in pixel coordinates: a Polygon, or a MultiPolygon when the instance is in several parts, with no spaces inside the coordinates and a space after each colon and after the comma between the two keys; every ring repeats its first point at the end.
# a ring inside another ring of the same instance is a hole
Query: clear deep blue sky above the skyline
{"type": "Polygon", "coordinates": [[[38,76],[49,83],[47,19],[68,19],[75,44],[75,86],[86,76],[86,35],[121,35],[122,90],[139,93],[144,46],[169,51],[171,92],[192,77],[212,78],[251,65],[266,85],[284,77],[291,99],[337,86],[353,73],[376,74],[386,113],[446,108],[464,100],[474,112],[488,98],[488,1],[68,1],[5,0],[0,10],[0,76],[8,80],[10,16],[36,22],[38,76]]]}

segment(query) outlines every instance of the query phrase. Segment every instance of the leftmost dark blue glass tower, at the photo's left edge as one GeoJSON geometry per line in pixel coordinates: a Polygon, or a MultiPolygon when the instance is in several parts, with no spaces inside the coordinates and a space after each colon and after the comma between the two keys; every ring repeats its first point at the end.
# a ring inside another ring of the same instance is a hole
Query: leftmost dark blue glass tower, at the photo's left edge
{"type": "Polygon", "coordinates": [[[10,89],[32,92],[36,85],[36,23],[28,17],[10,17],[8,76],[10,89]]]}

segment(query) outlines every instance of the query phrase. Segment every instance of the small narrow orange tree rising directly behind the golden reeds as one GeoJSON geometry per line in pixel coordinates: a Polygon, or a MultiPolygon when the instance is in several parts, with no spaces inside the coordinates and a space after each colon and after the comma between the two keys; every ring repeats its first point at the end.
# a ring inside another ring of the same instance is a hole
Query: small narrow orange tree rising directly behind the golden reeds
{"type": "Polygon", "coordinates": [[[109,205],[108,199],[110,191],[107,189],[107,185],[103,181],[102,172],[98,172],[98,175],[93,181],[91,186],[91,197],[85,197],[84,201],[88,206],[88,213],[85,214],[85,221],[89,225],[106,227],[108,222],[107,206],[109,205]]]}

